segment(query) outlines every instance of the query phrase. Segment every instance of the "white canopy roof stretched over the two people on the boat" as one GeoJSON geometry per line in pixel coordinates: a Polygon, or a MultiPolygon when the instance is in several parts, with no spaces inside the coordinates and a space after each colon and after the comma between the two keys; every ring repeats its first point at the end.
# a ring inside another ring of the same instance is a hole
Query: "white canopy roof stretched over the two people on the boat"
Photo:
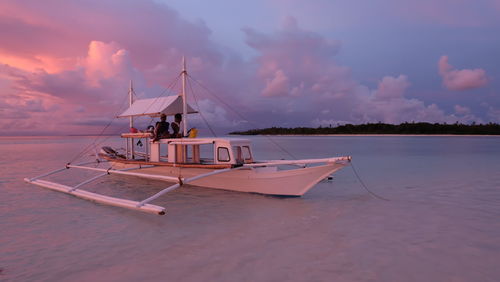
{"type": "MultiPolygon", "coordinates": [[[[187,105],[188,114],[197,113],[191,106],[187,105]]],[[[151,99],[139,99],[118,117],[151,116],[157,117],[161,114],[182,114],[182,97],[167,96],[151,99]]]]}

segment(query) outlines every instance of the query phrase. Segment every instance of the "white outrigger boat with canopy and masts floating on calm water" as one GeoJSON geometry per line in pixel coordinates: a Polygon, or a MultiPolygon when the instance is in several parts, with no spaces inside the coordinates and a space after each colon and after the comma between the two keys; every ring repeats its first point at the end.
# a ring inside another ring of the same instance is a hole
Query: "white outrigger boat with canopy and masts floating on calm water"
{"type": "MultiPolygon", "coordinates": [[[[128,117],[130,128],[133,128],[135,117],[157,117],[162,113],[168,116],[181,112],[183,136],[188,136],[187,115],[196,111],[187,104],[187,71],[184,59],[181,76],[182,93],[178,96],[134,101],[131,85],[129,108],[118,117],[128,117]]],[[[257,161],[253,157],[250,140],[242,138],[197,138],[195,134],[190,134],[189,137],[155,141],[148,132],[123,133],[121,137],[126,141],[124,154],[110,147],[102,147],[95,161],[68,163],[58,170],[34,178],[25,178],[25,181],[101,204],[162,215],[165,214],[165,208],[150,202],[186,184],[267,195],[302,196],[318,182],[351,161],[350,156],[257,161]],[[143,152],[136,150],[137,139],[145,140],[143,152]],[[161,152],[167,152],[166,156],[162,156],[161,152]],[[98,167],[100,164],[107,167],[98,167]],[[67,169],[97,171],[100,174],[75,186],[41,179],[67,169]],[[110,197],[81,189],[83,185],[110,174],[163,180],[171,185],[142,201],[110,197]]]]}

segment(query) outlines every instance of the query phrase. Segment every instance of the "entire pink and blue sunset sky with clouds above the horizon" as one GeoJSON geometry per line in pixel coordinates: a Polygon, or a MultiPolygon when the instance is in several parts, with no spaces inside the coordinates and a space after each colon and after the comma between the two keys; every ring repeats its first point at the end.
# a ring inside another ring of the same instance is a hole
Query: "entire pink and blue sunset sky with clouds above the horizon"
{"type": "Polygon", "coordinates": [[[99,133],[182,56],[219,133],[500,122],[500,0],[2,0],[0,34],[0,135],[99,133]]]}

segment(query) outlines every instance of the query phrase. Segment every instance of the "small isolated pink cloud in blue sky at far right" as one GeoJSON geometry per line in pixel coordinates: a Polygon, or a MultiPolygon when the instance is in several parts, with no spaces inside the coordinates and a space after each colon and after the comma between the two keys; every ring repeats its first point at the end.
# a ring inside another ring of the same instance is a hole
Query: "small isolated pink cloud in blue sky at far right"
{"type": "Polygon", "coordinates": [[[449,90],[469,90],[485,86],[488,83],[483,69],[454,69],[448,63],[448,56],[441,56],[438,63],[439,74],[443,77],[443,85],[449,90]]]}

